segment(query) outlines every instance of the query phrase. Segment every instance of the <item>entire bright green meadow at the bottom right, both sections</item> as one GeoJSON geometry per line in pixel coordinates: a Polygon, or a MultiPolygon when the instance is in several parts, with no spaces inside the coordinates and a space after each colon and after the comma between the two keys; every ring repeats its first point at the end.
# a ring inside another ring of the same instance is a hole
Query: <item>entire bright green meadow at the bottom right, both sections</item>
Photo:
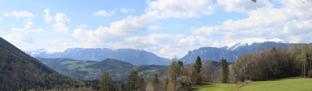
{"type": "Polygon", "coordinates": [[[273,81],[251,82],[236,89],[236,84],[203,83],[191,91],[312,91],[312,79],[285,78],[273,81]]]}

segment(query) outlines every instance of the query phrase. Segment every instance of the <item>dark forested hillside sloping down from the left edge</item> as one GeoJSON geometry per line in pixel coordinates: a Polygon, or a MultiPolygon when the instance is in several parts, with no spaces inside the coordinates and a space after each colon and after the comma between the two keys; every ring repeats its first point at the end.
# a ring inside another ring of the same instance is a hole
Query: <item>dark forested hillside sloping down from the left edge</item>
{"type": "Polygon", "coordinates": [[[61,75],[37,59],[0,38],[0,89],[17,90],[23,88],[60,88],[69,84],[83,84],[61,75]]]}

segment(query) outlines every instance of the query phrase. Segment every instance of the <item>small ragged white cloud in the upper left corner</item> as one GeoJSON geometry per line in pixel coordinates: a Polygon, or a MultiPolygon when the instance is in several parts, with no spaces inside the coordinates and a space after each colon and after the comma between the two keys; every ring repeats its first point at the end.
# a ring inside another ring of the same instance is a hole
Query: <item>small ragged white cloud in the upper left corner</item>
{"type": "Polygon", "coordinates": [[[32,13],[28,13],[27,11],[13,11],[12,13],[5,13],[4,16],[15,16],[16,17],[16,20],[19,20],[19,18],[22,18],[22,17],[27,17],[28,19],[24,19],[23,21],[24,22],[27,22],[27,20],[31,21],[32,19],[30,17],[35,17],[34,15],[32,15],[32,13]]]}

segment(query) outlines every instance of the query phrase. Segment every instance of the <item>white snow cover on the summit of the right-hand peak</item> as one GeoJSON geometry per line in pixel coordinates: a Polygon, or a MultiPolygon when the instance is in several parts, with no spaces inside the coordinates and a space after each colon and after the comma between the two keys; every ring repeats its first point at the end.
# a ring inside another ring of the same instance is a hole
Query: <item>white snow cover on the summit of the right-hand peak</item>
{"type": "Polygon", "coordinates": [[[254,43],[264,43],[264,42],[288,43],[288,42],[285,42],[285,41],[282,40],[282,39],[277,39],[277,38],[269,39],[269,40],[266,40],[266,39],[250,39],[250,38],[247,38],[247,39],[244,39],[244,40],[242,40],[242,41],[240,41],[240,42],[235,42],[235,43],[227,44],[226,46],[222,47],[222,49],[234,50],[234,49],[236,49],[237,47],[246,46],[246,45],[252,45],[252,44],[254,44],[254,43]]]}

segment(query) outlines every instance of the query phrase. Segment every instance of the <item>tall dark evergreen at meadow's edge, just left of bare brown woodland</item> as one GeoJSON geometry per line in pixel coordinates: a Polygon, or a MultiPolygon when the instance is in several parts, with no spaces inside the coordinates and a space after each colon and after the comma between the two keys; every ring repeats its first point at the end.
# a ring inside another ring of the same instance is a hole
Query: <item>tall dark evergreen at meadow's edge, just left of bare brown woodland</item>
{"type": "Polygon", "coordinates": [[[227,83],[227,79],[228,79],[228,75],[229,75],[230,70],[229,70],[229,65],[227,64],[227,60],[223,57],[222,57],[221,62],[220,62],[220,67],[221,67],[221,71],[222,71],[221,82],[227,83]]]}

